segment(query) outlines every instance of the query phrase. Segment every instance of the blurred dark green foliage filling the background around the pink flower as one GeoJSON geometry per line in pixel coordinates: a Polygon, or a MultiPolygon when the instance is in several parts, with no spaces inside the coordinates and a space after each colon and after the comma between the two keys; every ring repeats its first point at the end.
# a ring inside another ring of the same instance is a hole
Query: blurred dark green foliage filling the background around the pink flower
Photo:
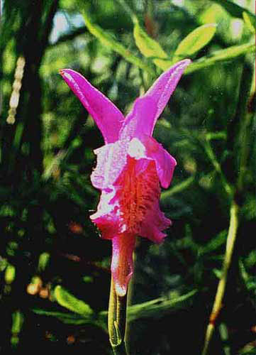
{"type": "Polygon", "coordinates": [[[111,244],[89,220],[99,199],[89,178],[96,164],[93,149],[103,139],[58,70],[81,72],[127,113],[178,55],[193,64],[154,133],[178,162],[161,198],[173,226],[161,246],[144,239],[138,244],[133,285],[138,305],[130,310],[134,354],[200,353],[234,193],[240,226],[209,354],[255,354],[253,3],[4,1],[2,354],[23,354],[31,346],[111,354],[104,327],[111,244]],[[199,28],[209,23],[216,27],[203,27],[211,29],[206,38],[199,28]],[[193,47],[189,38],[201,43],[193,47]],[[18,58],[24,58],[24,67],[18,58]],[[73,306],[84,313],[72,312],[73,306]]]}

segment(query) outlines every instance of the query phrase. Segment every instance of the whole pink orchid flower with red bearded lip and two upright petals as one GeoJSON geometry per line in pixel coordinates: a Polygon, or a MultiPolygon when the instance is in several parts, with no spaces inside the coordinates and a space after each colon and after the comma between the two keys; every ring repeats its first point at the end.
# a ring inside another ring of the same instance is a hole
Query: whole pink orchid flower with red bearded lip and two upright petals
{"type": "Polygon", "coordinates": [[[111,273],[119,296],[126,295],[133,275],[135,237],[160,244],[166,236],[162,231],[171,224],[160,211],[160,184],[169,186],[176,160],[152,132],[189,63],[182,60],[164,72],[135,100],[126,118],[78,72],[60,71],[104,136],[105,145],[94,151],[97,165],[91,183],[101,190],[101,198],[91,220],[104,239],[112,240],[111,273]]]}

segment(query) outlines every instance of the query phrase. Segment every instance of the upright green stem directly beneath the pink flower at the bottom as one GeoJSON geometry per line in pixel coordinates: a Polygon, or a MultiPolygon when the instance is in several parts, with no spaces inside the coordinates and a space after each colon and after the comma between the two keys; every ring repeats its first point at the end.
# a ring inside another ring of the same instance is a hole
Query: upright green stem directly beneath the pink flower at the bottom
{"type": "Polygon", "coordinates": [[[111,289],[108,305],[108,333],[109,342],[114,355],[126,355],[126,347],[123,337],[126,329],[126,296],[116,294],[113,277],[111,277],[111,289]]]}

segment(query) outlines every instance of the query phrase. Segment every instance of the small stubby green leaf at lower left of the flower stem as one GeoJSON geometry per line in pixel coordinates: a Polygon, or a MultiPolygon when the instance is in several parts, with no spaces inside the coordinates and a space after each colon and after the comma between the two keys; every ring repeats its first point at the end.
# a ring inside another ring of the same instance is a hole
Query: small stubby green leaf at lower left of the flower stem
{"type": "Polygon", "coordinates": [[[54,295],[57,302],[62,306],[71,310],[72,312],[78,313],[83,317],[90,317],[93,315],[94,311],[91,310],[91,307],[84,303],[82,300],[78,300],[77,297],[71,295],[67,292],[62,286],[57,285],[54,290],[54,295]]]}

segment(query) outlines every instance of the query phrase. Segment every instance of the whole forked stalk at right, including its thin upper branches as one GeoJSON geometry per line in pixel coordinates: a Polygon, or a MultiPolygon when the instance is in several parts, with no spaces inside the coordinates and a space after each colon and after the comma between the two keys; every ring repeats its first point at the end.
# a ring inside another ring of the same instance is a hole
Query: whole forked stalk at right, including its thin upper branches
{"type": "MultiPolygon", "coordinates": [[[[226,253],[223,261],[223,270],[222,270],[221,279],[219,280],[218,283],[218,289],[213,303],[213,310],[211,311],[208,327],[206,329],[206,336],[204,340],[204,349],[202,351],[202,355],[208,354],[208,348],[211,342],[211,338],[213,336],[216,320],[223,306],[223,297],[226,290],[228,271],[230,268],[230,263],[231,263],[234,245],[235,245],[235,239],[238,231],[240,201],[237,200],[240,200],[240,197],[243,196],[243,185],[245,180],[245,172],[246,172],[247,158],[248,158],[247,142],[250,141],[249,140],[250,131],[248,128],[250,127],[250,122],[252,121],[252,114],[249,111],[247,111],[247,102],[248,102],[248,97],[250,96],[250,91],[255,92],[255,84],[253,84],[252,82],[252,75],[253,75],[252,65],[250,65],[249,62],[245,62],[243,68],[243,75],[241,77],[241,82],[240,82],[240,97],[238,100],[237,112],[233,122],[233,124],[237,123],[236,121],[240,123],[240,129],[237,133],[239,144],[238,144],[238,149],[235,149],[235,153],[238,156],[238,178],[235,184],[235,194],[233,194],[233,190],[230,188],[230,185],[226,181],[226,178],[221,171],[220,165],[218,165],[218,162],[216,162],[217,164],[216,170],[218,171],[218,173],[221,174],[221,178],[222,178],[221,180],[223,182],[223,186],[225,187],[225,190],[228,193],[228,195],[232,197],[232,202],[230,204],[230,224],[228,228],[228,237],[226,242],[226,253]]],[[[233,148],[233,144],[234,144],[233,129],[230,129],[229,136],[231,141],[230,147],[233,148]]],[[[235,146],[235,148],[237,147],[235,146]]]]}

